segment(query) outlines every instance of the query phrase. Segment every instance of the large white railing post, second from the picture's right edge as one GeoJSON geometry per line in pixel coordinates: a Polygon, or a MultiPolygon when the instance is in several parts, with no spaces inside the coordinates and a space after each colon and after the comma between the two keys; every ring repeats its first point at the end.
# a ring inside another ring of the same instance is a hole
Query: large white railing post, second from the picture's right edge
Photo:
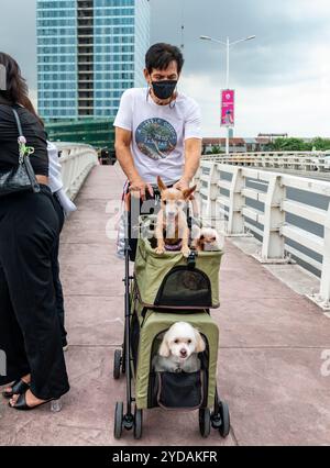
{"type": "Polygon", "coordinates": [[[285,187],[280,176],[270,179],[264,212],[264,236],[262,260],[284,259],[284,236],[280,226],[285,222],[285,212],[282,202],[285,199],[285,187]]]}

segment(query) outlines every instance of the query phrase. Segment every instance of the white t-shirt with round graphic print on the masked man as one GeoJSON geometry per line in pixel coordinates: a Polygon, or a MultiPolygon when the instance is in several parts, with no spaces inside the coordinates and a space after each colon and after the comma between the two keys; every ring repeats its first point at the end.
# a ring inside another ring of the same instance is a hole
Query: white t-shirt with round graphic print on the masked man
{"type": "Polygon", "coordinates": [[[169,185],[183,176],[187,138],[201,138],[197,102],[178,93],[167,105],[156,104],[146,88],[132,88],[121,97],[113,125],[132,132],[131,152],[139,175],[156,183],[161,176],[169,185]]]}

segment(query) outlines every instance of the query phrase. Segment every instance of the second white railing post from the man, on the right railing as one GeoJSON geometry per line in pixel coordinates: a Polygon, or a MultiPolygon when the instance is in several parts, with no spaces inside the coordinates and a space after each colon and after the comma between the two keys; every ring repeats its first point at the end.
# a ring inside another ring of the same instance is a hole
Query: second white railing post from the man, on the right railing
{"type": "Polygon", "coordinates": [[[243,176],[243,168],[234,167],[229,194],[229,213],[226,232],[226,234],[228,235],[244,234],[244,216],[242,214],[242,209],[244,204],[244,197],[242,196],[242,190],[244,188],[244,185],[245,180],[243,176]]]}

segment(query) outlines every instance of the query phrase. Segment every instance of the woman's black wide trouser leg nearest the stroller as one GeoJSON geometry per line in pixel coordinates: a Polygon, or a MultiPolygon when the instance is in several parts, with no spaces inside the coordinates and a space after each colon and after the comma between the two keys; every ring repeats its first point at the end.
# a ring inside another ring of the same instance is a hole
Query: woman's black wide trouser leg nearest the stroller
{"type": "MultiPolygon", "coordinates": [[[[31,369],[31,390],[41,400],[69,389],[55,303],[51,254],[58,235],[52,194],[15,197],[9,207],[7,247],[1,250],[12,307],[31,369]]],[[[3,244],[1,244],[3,245],[3,244]]]]}

